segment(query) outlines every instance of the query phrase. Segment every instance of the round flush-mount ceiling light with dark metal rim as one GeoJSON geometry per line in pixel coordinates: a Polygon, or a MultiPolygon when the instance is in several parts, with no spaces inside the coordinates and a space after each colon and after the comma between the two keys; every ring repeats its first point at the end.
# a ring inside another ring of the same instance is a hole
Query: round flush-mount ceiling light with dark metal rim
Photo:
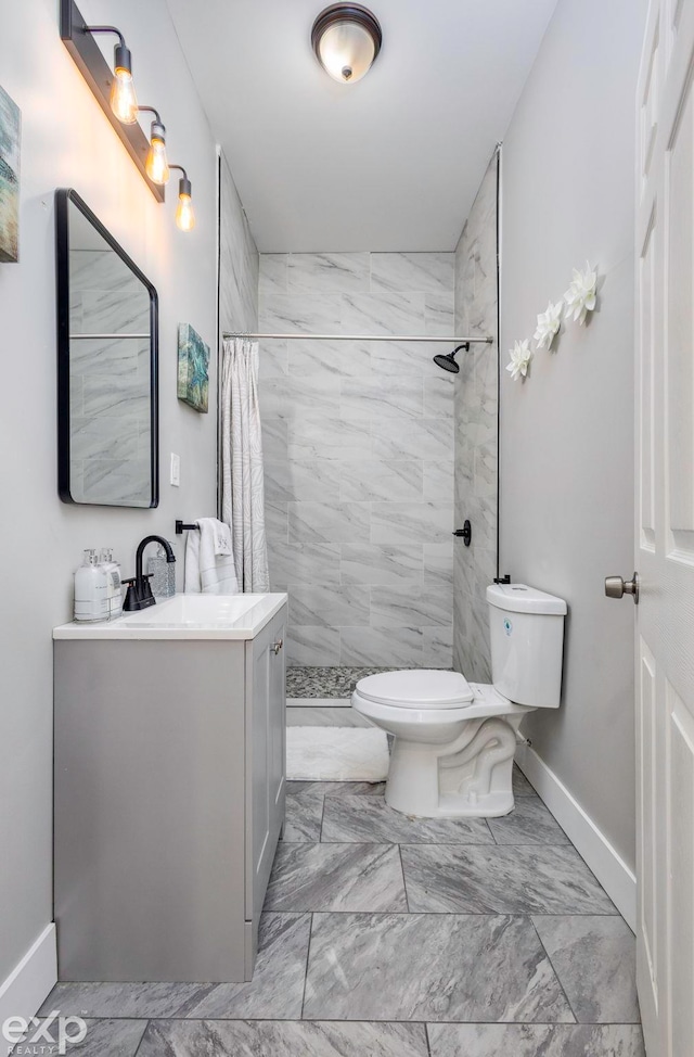
{"type": "Polygon", "coordinates": [[[325,73],[343,85],[354,85],[369,73],[382,40],[378,20],[359,3],[325,8],[311,29],[318,61],[325,73]]]}

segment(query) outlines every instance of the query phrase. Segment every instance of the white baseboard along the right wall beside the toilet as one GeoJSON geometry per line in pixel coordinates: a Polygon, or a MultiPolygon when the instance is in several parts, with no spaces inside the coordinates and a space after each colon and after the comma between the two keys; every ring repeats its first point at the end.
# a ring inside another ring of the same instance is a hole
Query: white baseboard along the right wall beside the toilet
{"type": "Polygon", "coordinates": [[[637,878],[592,818],[535,749],[519,744],[516,763],[550,808],[630,929],[637,925],[637,878]]]}

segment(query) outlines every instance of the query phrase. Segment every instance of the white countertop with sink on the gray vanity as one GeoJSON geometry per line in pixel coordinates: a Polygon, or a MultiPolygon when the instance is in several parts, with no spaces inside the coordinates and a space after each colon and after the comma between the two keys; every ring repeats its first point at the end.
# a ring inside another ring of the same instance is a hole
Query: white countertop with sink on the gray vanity
{"type": "Polygon", "coordinates": [[[286,602],[286,595],[175,595],[115,621],[73,621],[54,639],[252,639],[286,602]]]}

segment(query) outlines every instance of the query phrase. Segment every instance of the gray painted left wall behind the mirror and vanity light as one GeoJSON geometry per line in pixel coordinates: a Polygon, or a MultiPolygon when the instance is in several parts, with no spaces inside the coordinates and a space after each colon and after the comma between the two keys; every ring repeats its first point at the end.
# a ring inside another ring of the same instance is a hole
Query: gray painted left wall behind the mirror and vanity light
{"type": "MultiPolygon", "coordinates": [[[[17,265],[0,265],[3,348],[12,361],[2,433],[3,562],[0,662],[0,981],[52,916],[52,641],[70,617],[73,571],[85,547],[113,546],[124,573],[146,533],[174,537],[176,518],[214,513],[215,415],[176,398],[177,328],[216,334],[216,154],[164,0],[80,0],[92,23],[117,22],[142,102],[162,109],[170,156],[188,167],[197,225],[174,221],[176,180],[157,204],[61,42],[55,0],[24,0],[0,35],[2,87],[22,109],[17,265]],[[116,11],[117,8],[117,11],[116,11]],[[117,14],[117,17],[116,17],[117,14]],[[160,313],[162,502],[157,510],[65,506],[55,454],[53,192],[74,187],[154,282],[160,313]],[[168,484],[169,453],[181,486],[168,484]],[[11,517],[9,515],[11,512],[11,517]]],[[[106,38],[106,52],[113,42],[106,38]]],[[[214,366],[214,365],[213,365],[214,366]]],[[[216,377],[210,384],[215,407],[216,377]]],[[[124,687],[127,677],[123,675],[124,687]]]]}

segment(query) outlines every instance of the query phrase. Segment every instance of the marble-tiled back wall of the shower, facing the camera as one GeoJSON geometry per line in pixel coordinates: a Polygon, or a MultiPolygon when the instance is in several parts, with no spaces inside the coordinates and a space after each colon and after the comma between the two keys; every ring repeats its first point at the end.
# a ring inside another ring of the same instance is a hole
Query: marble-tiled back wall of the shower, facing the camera
{"type": "Polygon", "coordinates": [[[273,589],[288,662],[452,657],[453,381],[429,343],[300,334],[453,333],[452,253],[261,254],[260,410],[273,589]]]}

